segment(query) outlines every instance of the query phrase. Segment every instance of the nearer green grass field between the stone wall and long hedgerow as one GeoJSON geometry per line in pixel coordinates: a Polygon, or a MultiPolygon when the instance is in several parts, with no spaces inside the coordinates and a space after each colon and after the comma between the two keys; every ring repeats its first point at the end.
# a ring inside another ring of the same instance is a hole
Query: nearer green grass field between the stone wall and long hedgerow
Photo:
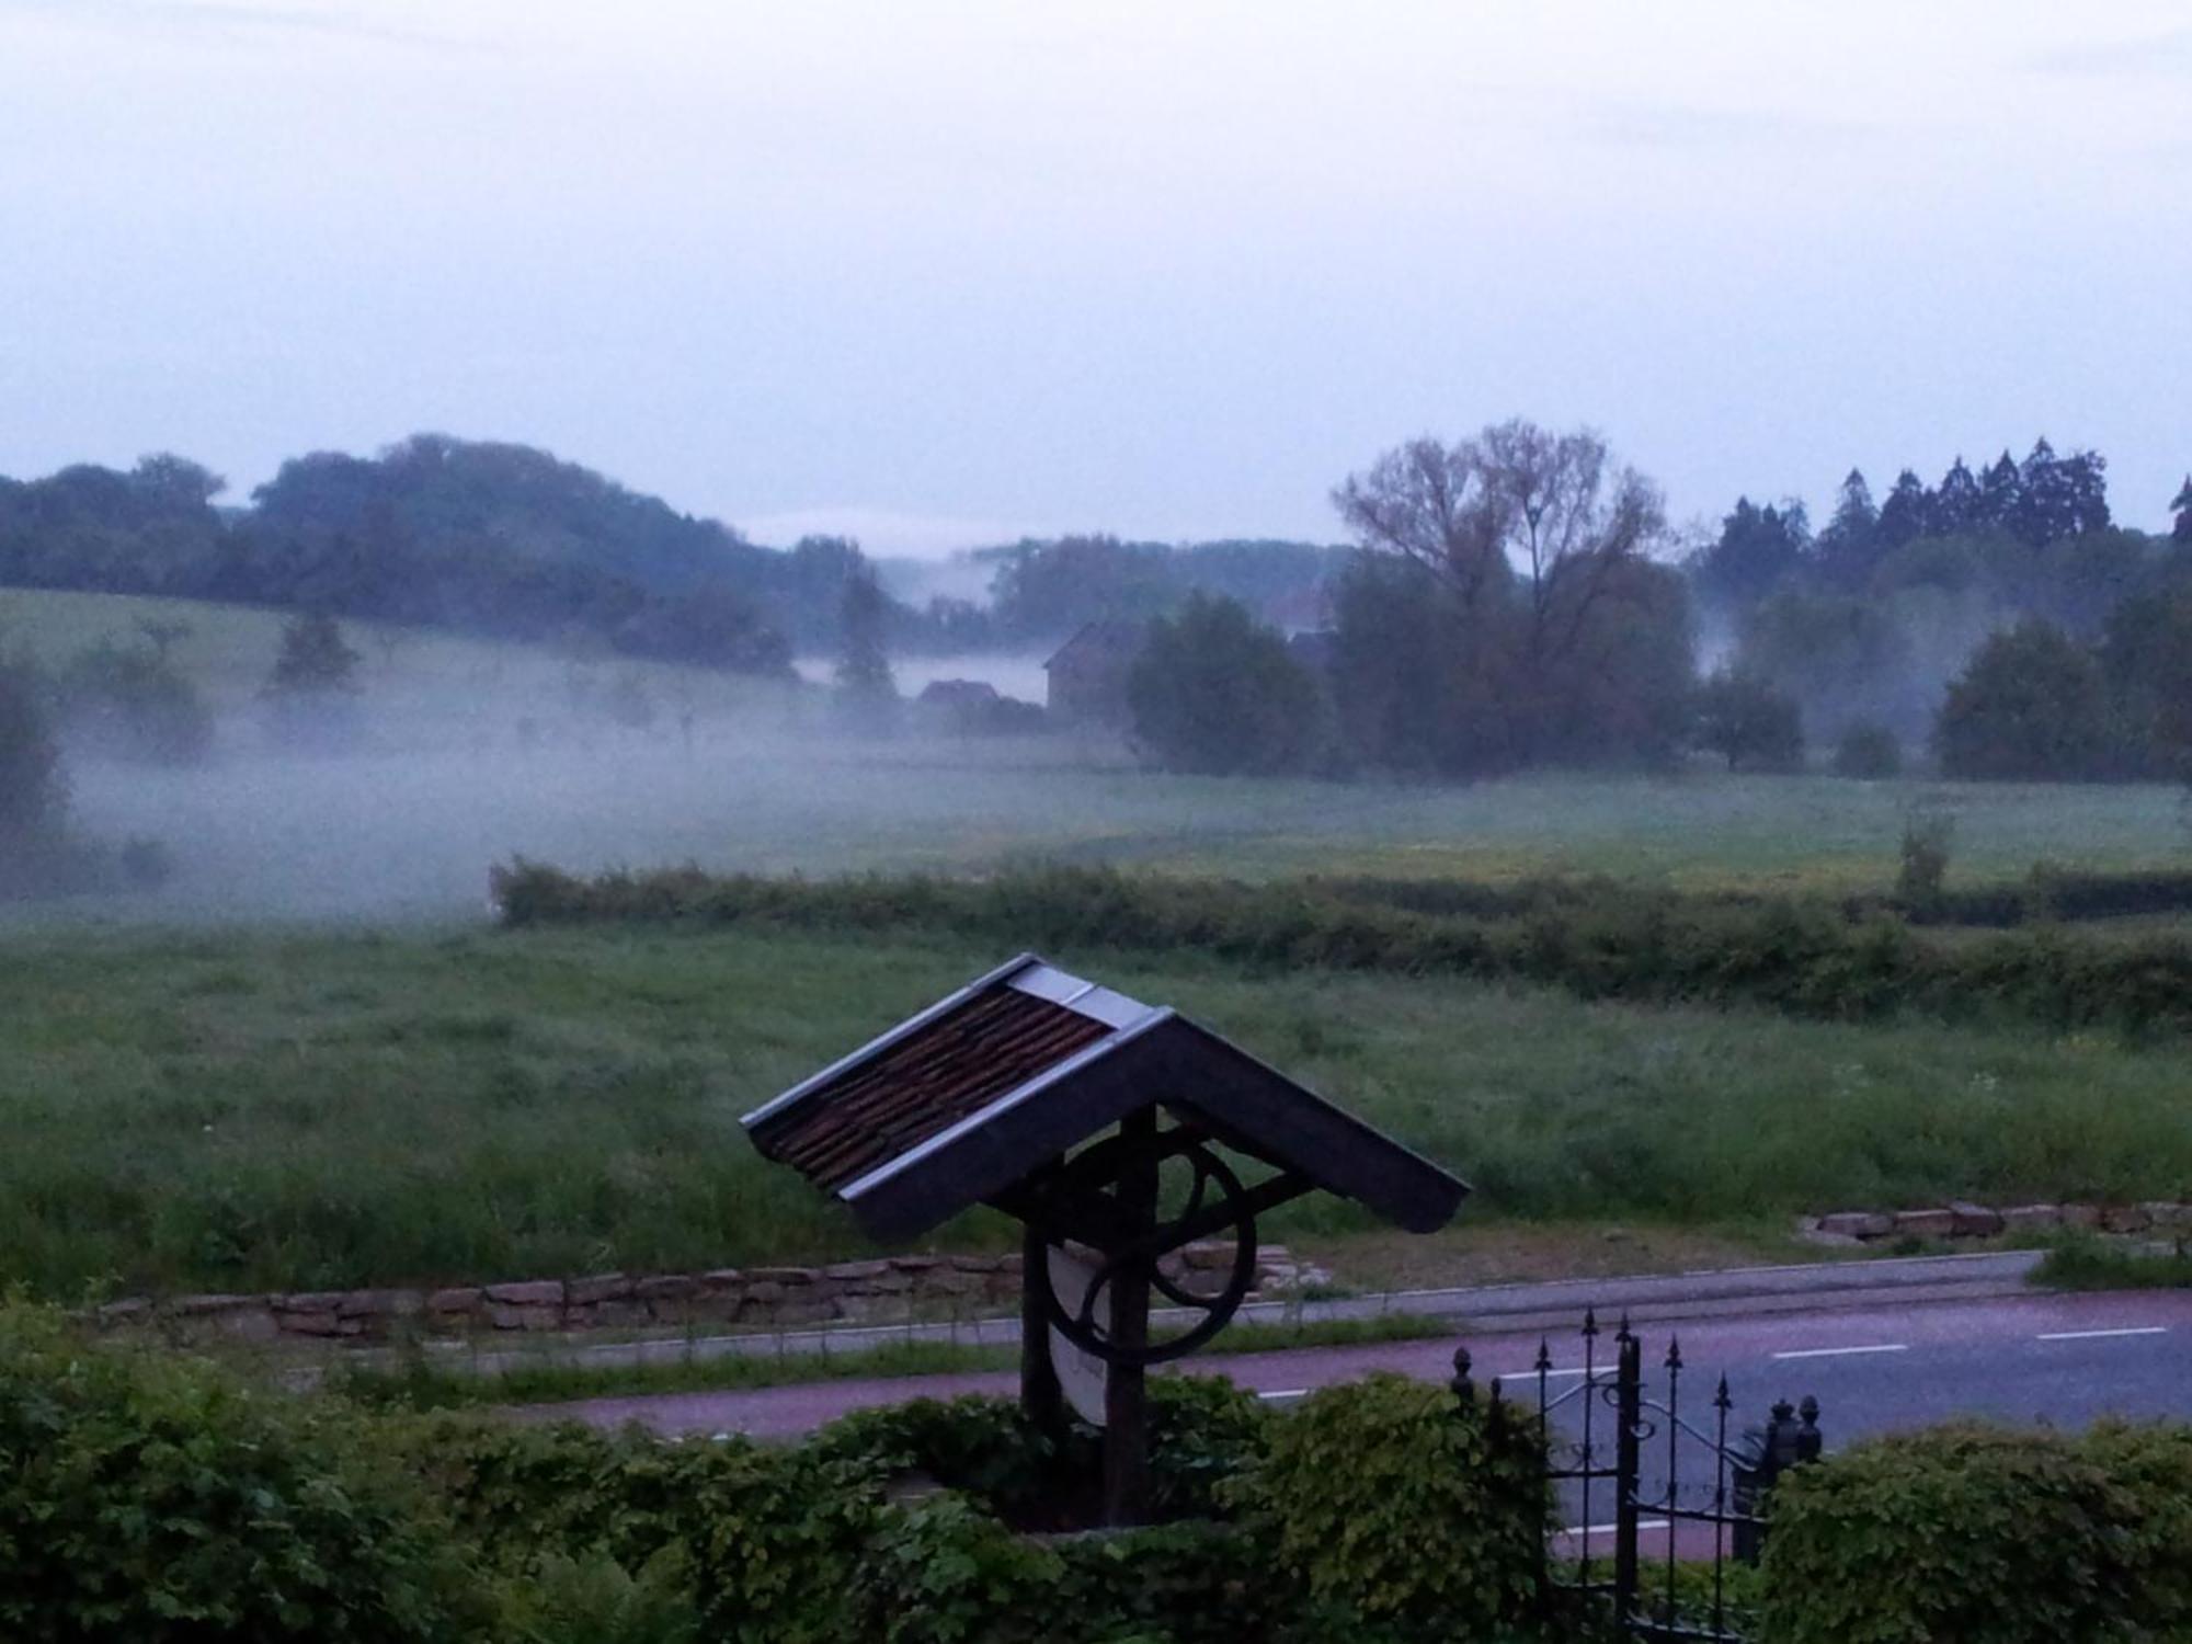
{"type": "MultiPolygon", "coordinates": [[[[739,1114],[997,958],[625,929],[18,934],[0,1280],[316,1289],[844,1256],[850,1225],[761,1164],[739,1114]]],[[[1054,958],[1447,1162],[1480,1225],[1756,1243],[1800,1210],[2192,1197],[2185,1063],[2161,1050],[1054,958]]],[[[1271,1232],[1377,1245],[1331,1201],[1271,1232]]],[[[943,1243],[1002,1236],[975,1219],[943,1243]]]]}

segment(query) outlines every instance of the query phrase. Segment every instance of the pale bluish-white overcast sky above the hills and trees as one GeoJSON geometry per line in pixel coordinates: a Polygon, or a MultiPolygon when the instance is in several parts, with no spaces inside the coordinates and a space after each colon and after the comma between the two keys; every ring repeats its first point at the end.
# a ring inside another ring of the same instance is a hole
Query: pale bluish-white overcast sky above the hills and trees
{"type": "Polygon", "coordinates": [[[544,445],[761,541],[2192,469],[2183,0],[0,0],[0,473],[544,445]]]}

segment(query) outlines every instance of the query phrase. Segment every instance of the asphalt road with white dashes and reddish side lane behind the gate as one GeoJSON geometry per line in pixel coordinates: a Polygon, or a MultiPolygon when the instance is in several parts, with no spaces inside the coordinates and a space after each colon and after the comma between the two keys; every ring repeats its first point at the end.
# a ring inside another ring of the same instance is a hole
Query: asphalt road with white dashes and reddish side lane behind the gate
{"type": "MultiPolygon", "coordinates": [[[[1602,1320],[1600,1361],[1613,1320],[1602,1320]]],[[[2098,1416],[2192,1418],[2192,1293],[2010,1295],[1968,1302],[1898,1302],[1729,1315],[1640,1326],[1646,1370],[1681,1344],[1681,1412],[1710,1418],[1721,1374],[1734,1398],[1732,1431],[1760,1423],[1776,1398],[1819,1401],[1828,1449],[1872,1431],[1922,1427],[1949,1416],[2085,1427],[2098,1416]]],[[[1368,1370],[1445,1381],[1466,1344],[1473,1374],[1497,1377],[1508,1396],[1534,1398],[1541,1335],[1482,1333],[1355,1348],[1206,1355],[1192,1370],[1287,1398],[1368,1370]]],[[[1548,1337],[1554,1366],[1580,1374],[1574,1328],[1548,1337]]],[[[1664,1398],[1664,1372],[1651,1392],[1664,1398]]],[[[1011,1392],[1011,1374],[824,1381],[752,1392],[596,1398],[524,1412],[594,1425],[642,1423],[662,1434],[789,1436],[879,1403],[962,1392],[1011,1392]]],[[[1572,1401],[1574,1403],[1574,1401],[1572,1401]]]]}

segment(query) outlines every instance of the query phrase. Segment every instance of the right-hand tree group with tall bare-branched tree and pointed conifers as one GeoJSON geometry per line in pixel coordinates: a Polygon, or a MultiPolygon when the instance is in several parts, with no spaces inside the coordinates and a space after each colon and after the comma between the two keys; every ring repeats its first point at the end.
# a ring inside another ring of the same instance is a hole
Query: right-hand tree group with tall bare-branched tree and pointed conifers
{"type": "Polygon", "coordinates": [[[1135,664],[1135,732],[1192,769],[1662,765],[1846,776],[2192,769],[2192,478],[2168,539],[2120,528],[2098,452],[1736,502],[1688,552],[1607,443],[1526,421],[1416,438],[1333,502],[1357,550],[1328,633],[1190,598],[1135,664]],[[2183,658],[2183,660],[2181,660],[2183,658]],[[1712,666],[1699,677],[1699,662],[1712,666]]]}

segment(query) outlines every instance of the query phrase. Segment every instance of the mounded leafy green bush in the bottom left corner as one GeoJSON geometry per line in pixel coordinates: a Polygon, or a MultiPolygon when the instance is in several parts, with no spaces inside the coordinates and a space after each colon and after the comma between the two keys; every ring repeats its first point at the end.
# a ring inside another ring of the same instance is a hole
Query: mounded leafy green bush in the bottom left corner
{"type": "Polygon", "coordinates": [[[0,1309],[0,1635],[445,1640],[480,1591],[338,1405],[0,1309]]]}

